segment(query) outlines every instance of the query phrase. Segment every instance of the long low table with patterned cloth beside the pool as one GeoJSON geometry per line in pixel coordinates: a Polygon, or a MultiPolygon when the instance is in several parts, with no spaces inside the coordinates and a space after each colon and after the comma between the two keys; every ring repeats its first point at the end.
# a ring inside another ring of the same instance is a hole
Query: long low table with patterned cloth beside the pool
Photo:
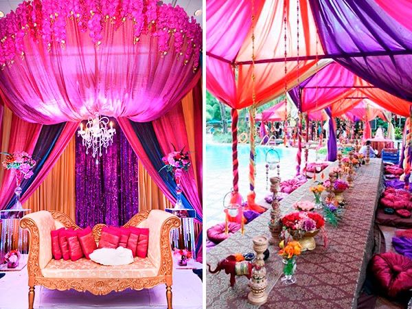
{"type": "MultiPolygon", "coordinates": [[[[325,169],[328,175],[332,163],[325,169]]],[[[326,225],[328,247],[323,247],[317,236],[317,248],[297,258],[297,283],[282,284],[282,263],[277,248],[269,246],[271,256],[266,261],[268,301],[262,308],[356,308],[367,263],[374,247],[374,218],[378,198],[382,190],[383,165],[380,159],[371,159],[356,171],[354,187],[344,193],[347,205],[338,227],[326,225]]],[[[308,181],[280,202],[282,216],[293,209],[293,203],[301,200],[314,201],[308,181]]],[[[253,220],[238,232],[221,242],[207,253],[207,264],[214,268],[219,260],[233,253],[252,251],[252,238],[269,236],[270,211],[253,220]]],[[[206,276],[207,308],[256,308],[247,302],[248,280],[236,278],[236,286],[229,286],[229,275],[224,271],[206,276]]]]}

